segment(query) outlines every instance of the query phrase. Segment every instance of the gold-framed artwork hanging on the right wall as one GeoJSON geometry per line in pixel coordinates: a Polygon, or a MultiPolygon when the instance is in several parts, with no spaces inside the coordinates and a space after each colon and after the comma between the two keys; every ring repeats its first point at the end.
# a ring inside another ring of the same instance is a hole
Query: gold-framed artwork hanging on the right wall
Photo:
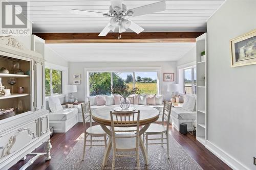
{"type": "Polygon", "coordinates": [[[231,67],[256,64],[256,30],[230,40],[231,67]]]}

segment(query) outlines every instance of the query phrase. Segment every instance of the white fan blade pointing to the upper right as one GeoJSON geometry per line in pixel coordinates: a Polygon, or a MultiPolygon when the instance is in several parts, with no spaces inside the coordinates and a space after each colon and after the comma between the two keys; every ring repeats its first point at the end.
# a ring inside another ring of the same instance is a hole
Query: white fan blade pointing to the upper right
{"type": "Polygon", "coordinates": [[[160,11],[164,11],[165,10],[165,1],[160,1],[157,3],[153,3],[153,4],[148,4],[148,5],[144,5],[141,7],[137,7],[137,8],[133,8],[127,11],[127,13],[129,11],[133,12],[132,16],[140,16],[140,15],[145,15],[145,14],[151,14],[151,13],[155,13],[155,12],[160,12],[160,11]]]}

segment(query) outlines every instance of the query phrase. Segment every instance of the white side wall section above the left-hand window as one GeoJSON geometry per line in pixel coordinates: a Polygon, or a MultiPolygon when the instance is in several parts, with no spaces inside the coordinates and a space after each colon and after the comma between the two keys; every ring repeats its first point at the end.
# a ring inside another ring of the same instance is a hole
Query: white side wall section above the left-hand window
{"type": "Polygon", "coordinates": [[[47,44],[45,45],[45,60],[46,62],[57,64],[60,66],[69,66],[69,62],[63,59],[59,54],[52,50],[47,44]]]}

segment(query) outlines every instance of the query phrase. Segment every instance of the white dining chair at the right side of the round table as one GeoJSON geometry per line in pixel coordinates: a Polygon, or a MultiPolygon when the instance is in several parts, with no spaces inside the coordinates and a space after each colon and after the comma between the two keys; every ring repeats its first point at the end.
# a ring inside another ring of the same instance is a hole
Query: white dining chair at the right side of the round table
{"type": "Polygon", "coordinates": [[[162,124],[151,124],[150,127],[145,131],[143,134],[143,141],[144,141],[144,135],[146,137],[146,152],[148,153],[148,145],[149,144],[161,144],[163,147],[163,144],[167,145],[167,158],[169,159],[169,125],[170,125],[170,112],[172,110],[172,102],[167,102],[164,100],[163,104],[163,117],[162,117],[162,124]],[[166,127],[164,126],[164,122],[167,122],[166,127]],[[163,138],[163,134],[166,135],[166,138],[163,138]],[[150,135],[161,135],[161,138],[150,138],[148,139],[148,136],[150,135]],[[163,140],[166,139],[166,142],[163,142],[163,140]],[[148,143],[148,140],[161,140],[161,142],[158,143],[148,143]]]}

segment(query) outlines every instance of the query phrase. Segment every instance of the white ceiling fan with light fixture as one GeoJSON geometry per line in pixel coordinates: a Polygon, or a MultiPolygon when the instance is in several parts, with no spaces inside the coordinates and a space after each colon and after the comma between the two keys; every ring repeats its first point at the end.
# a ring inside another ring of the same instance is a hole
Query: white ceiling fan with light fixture
{"type": "Polygon", "coordinates": [[[110,17],[110,22],[104,27],[99,36],[105,36],[110,32],[110,30],[114,32],[116,27],[118,27],[119,33],[125,32],[126,29],[131,29],[132,31],[139,34],[144,29],[134,23],[131,19],[126,17],[135,17],[165,10],[165,1],[144,5],[130,10],[127,10],[126,5],[124,5],[122,2],[123,0],[111,0],[109,14],[86,10],[69,10],[72,14],[110,17]]]}

